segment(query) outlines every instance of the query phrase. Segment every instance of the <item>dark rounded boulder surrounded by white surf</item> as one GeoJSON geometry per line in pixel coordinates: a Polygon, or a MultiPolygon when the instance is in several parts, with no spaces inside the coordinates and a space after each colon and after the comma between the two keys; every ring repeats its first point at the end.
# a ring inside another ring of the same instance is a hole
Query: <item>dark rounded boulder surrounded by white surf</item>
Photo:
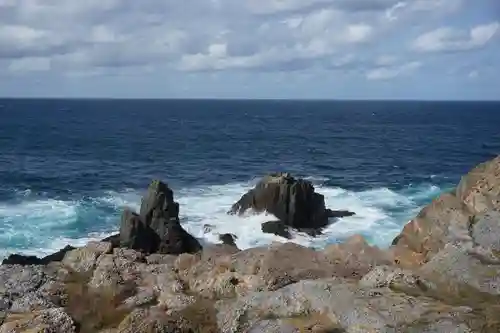
{"type": "Polygon", "coordinates": [[[285,225],[296,229],[323,228],[334,212],[325,208],[325,198],[314,186],[288,173],[264,177],[255,188],[236,202],[230,213],[268,212],[285,225]]]}

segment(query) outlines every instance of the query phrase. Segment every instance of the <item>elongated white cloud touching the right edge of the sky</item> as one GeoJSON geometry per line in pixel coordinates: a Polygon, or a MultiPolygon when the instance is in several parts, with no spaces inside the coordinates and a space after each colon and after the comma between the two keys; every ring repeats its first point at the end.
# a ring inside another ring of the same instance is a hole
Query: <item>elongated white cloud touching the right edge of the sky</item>
{"type": "Polygon", "coordinates": [[[500,29],[498,22],[476,26],[467,33],[450,27],[420,35],[412,48],[420,52],[466,51],[485,46],[500,29]]]}

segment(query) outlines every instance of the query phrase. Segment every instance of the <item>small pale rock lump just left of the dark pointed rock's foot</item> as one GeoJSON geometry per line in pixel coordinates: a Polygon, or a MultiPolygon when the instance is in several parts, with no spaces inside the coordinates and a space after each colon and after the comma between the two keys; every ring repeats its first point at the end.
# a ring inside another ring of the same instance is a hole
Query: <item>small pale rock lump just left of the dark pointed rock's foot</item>
{"type": "Polygon", "coordinates": [[[111,243],[89,242],[84,247],[67,252],[62,263],[75,272],[89,272],[95,268],[98,258],[111,253],[112,249],[111,243]]]}

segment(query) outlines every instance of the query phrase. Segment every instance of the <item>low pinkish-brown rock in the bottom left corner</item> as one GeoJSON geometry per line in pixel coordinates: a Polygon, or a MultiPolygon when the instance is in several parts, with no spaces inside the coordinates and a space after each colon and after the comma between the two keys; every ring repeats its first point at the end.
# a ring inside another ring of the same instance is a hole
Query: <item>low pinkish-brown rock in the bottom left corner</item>
{"type": "Polygon", "coordinates": [[[73,319],[61,308],[32,313],[9,314],[0,326],[0,333],[76,333],[73,319]]]}

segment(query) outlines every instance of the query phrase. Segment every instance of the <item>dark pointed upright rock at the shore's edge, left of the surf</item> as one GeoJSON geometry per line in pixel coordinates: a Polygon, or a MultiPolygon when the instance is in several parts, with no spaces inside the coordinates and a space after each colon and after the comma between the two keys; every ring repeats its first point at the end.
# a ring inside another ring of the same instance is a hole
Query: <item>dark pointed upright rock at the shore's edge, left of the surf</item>
{"type": "Polygon", "coordinates": [[[126,209],[120,225],[120,246],[145,253],[181,254],[201,250],[179,221],[179,204],[167,184],[153,181],[142,199],[140,214],[126,209]]]}

